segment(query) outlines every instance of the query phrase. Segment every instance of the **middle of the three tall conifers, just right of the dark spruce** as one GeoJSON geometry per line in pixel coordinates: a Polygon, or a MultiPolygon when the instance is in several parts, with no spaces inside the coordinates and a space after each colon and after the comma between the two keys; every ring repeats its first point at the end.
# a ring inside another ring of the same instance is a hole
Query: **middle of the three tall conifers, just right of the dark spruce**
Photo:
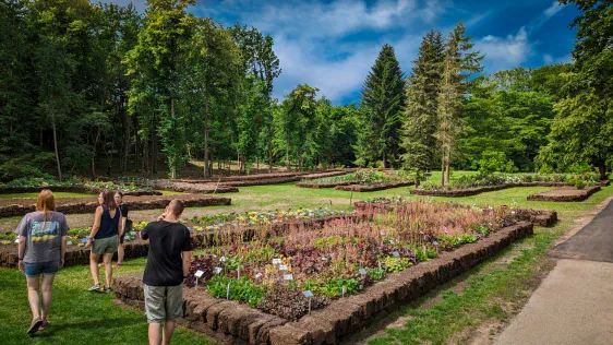
{"type": "Polygon", "coordinates": [[[436,155],[438,93],[442,80],[444,47],[441,33],[430,31],[423,37],[419,56],[407,87],[402,155],[404,167],[416,181],[426,178],[436,155]]]}

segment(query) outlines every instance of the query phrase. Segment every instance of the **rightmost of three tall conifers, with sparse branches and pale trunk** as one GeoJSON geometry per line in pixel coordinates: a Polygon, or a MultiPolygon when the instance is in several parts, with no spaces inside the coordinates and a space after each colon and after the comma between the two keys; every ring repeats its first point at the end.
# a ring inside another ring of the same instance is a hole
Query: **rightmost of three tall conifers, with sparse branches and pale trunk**
{"type": "Polygon", "coordinates": [[[459,22],[446,43],[445,70],[438,95],[438,131],[436,139],[441,143],[441,185],[449,183],[452,152],[457,136],[462,132],[462,100],[469,91],[470,76],[483,70],[483,56],[479,50],[470,51],[474,46],[471,37],[466,36],[466,27],[459,22]]]}

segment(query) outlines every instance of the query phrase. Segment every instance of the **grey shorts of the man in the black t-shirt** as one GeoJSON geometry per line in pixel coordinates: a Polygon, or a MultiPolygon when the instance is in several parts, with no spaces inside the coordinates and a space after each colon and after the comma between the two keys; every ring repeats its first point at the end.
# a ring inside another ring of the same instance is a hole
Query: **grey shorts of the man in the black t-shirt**
{"type": "Polygon", "coordinates": [[[145,288],[145,313],[148,323],[163,323],[183,317],[183,285],[145,288]]]}

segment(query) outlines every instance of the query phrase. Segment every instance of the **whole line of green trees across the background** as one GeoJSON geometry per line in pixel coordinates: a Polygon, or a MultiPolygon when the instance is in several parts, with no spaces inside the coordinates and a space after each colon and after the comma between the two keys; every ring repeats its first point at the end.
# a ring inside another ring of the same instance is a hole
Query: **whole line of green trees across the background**
{"type": "Polygon", "coordinates": [[[442,183],[452,168],[606,171],[611,37],[589,25],[608,33],[611,11],[575,2],[574,64],[481,74],[483,56],[459,23],[446,37],[425,34],[408,78],[383,46],[360,105],[336,106],[308,84],[275,99],[273,38],[197,17],[193,0],[148,0],[142,14],[2,0],[0,179],[176,178],[192,159],[205,177],[230,160],[242,171],[394,167],[418,181],[441,169],[442,183]]]}

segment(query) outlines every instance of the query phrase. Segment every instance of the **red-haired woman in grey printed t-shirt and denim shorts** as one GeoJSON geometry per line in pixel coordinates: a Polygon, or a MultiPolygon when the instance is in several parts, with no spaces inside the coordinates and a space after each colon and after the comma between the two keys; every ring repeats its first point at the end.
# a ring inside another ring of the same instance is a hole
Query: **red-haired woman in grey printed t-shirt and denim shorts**
{"type": "Polygon", "coordinates": [[[19,269],[27,279],[27,299],[32,309],[28,334],[49,326],[47,317],[53,279],[64,264],[68,230],[65,216],[56,212],[56,199],[50,190],[40,191],[36,211],[26,214],[17,226],[19,269]]]}

